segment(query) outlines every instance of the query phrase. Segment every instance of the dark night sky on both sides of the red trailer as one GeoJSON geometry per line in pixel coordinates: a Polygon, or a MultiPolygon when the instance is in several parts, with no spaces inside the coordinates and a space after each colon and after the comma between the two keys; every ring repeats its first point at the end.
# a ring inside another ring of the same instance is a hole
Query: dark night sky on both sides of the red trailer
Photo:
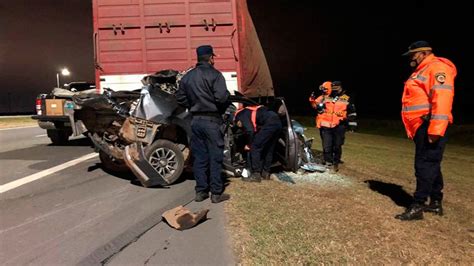
{"type": "MultiPolygon", "coordinates": [[[[61,66],[70,68],[71,79],[93,80],[91,2],[0,0],[0,112],[32,111],[35,95],[54,86],[61,66]]],[[[248,3],[276,92],[292,113],[313,114],[309,93],[325,80],[341,80],[360,115],[399,118],[410,74],[400,55],[424,39],[456,64],[455,119],[473,121],[472,2],[248,3]]]]}

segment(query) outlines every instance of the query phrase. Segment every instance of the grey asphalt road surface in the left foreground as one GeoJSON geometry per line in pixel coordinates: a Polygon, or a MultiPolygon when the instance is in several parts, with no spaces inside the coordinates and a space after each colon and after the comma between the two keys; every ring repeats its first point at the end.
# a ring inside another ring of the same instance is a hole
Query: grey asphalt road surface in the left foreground
{"type": "Polygon", "coordinates": [[[194,180],[144,188],[131,173],[104,172],[88,139],[53,146],[45,134],[0,131],[0,264],[233,264],[222,204],[188,205],[211,210],[211,219],[190,230],[161,222],[165,210],[192,201],[194,180]]]}

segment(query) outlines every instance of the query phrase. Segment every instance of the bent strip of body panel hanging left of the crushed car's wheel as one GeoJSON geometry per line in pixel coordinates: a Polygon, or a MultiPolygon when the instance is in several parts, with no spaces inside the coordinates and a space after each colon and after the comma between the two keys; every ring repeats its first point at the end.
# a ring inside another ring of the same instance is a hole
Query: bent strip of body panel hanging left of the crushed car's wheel
{"type": "Polygon", "coordinates": [[[144,187],[169,185],[145,158],[145,152],[140,143],[126,146],[123,155],[125,163],[144,187]]]}

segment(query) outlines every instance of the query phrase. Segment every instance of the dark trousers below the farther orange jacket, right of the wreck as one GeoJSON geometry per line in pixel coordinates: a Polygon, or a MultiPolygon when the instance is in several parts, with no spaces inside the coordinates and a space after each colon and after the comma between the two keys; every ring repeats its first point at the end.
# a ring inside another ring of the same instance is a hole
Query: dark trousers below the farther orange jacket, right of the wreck
{"type": "Polygon", "coordinates": [[[345,133],[346,128],[341,124],[333,128],[319,128],[319,134],[323,144],[324,161],[335,164],[341,161],[345,133]]]}

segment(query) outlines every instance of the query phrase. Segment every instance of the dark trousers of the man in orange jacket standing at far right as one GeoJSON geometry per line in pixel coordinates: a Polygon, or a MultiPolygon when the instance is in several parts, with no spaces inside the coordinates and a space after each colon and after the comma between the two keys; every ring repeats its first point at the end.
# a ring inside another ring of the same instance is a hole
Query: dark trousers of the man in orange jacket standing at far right
{"type": "Polygon", "coordinates": [[[428,197],[432,200],[443,199],[443,175],[441,160],[447,136],[441,137],[435,143],[428,142],[429,122],[424,122],[416,131],[415,141],[415,202],[424,203],[428,197]]]}

